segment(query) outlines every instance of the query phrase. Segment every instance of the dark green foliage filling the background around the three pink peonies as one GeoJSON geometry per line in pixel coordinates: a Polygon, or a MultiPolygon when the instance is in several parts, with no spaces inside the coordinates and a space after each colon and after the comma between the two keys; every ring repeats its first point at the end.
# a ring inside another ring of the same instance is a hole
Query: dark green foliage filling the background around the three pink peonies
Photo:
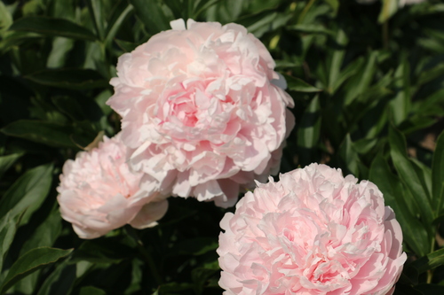
{"type": "Polygon", "coordinates": [[[117,58],[170,20],[258,36],[295,100],[281,163],[375,182],[409,259],[395,294],[444,293],[444,4],[398,1],[0,2],[0,294],[220,294],[212,203],[170,198],[153,229],[78,238],[56,201],[66,159],[113,136],[117,58]],[[157,273],[153,273],[152,267],[157,273]]]}

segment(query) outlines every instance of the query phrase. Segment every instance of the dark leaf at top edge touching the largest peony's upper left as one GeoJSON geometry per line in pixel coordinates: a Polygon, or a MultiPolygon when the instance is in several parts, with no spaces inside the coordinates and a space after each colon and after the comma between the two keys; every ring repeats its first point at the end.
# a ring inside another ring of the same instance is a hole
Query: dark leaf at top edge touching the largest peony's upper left
{"type": "Polygon", "coordinates": [[[172,15],[166,14],[161,5],[162,2],[156,0],[129,0],[134,6],[134,12],[139,19],[144,23],[147,32],[151,35],[157,34],[160,31],[170,29],[170,21],[172,15]]]}

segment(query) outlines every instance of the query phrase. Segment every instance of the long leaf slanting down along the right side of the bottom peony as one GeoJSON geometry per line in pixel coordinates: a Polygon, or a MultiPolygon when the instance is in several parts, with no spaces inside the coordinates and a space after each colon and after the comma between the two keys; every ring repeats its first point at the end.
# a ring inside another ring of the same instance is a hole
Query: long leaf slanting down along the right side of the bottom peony
{"type": "Polygon", "coordinates": [[[396,213],[396,219],[400,221],[404,233],[404,240],[410,249],[419,256],[428,253],[431,245],[427,231],[408,209],[406,203],[411,200],[403,194],[404,189],[400,179],[390,172],[390,167],[380,154],[371,163],[369,180],[377,184],[384,194],[385,205],[391,206],[396,213]]]}

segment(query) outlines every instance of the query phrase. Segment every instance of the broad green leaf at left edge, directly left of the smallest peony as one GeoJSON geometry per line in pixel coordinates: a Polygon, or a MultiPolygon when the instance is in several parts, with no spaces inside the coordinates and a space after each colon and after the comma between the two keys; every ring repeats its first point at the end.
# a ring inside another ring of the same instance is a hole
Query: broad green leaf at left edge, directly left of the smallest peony
{"type": "Polygon", "coordinates": [[[44,202],[52,183],[52,165],[28,170],[6,190],[0,199],[0,216],[11,210],[12,216],[27,210],[21,219],[26,224],[32,213],[44,202]]]}

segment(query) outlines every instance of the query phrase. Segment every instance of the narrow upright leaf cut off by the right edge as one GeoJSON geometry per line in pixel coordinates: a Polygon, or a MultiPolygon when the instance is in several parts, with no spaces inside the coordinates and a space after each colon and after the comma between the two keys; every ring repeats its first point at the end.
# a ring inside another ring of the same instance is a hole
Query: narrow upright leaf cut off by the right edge
{"type": "Polygon", "coordinates": [[[436,141],[436,148],[432,160],[432,205],[439,213],[444,203],[444,132],[441,132],[436,141]]]}

